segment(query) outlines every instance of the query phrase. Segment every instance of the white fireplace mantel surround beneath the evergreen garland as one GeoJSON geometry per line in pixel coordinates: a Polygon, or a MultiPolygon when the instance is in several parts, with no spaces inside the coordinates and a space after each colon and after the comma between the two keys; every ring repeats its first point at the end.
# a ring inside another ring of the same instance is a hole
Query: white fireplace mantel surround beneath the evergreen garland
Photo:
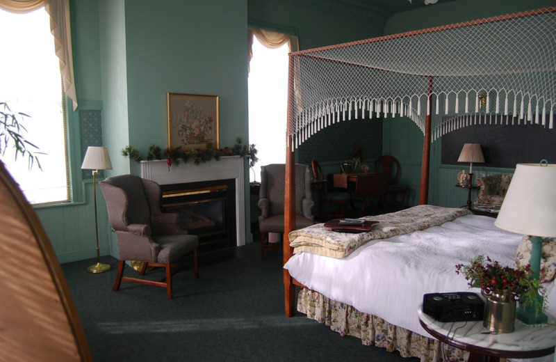
{"type": "Polygon", "coordinates": [[[165,160],[141,161],[141,177],[158,184],[181,184],[213,180],[236,180],[236,240],[245,245],[245,189],[243,167],[240,156],[220,157],[196,166],[193,162],[174,164],[168,170],[165,160]]]}

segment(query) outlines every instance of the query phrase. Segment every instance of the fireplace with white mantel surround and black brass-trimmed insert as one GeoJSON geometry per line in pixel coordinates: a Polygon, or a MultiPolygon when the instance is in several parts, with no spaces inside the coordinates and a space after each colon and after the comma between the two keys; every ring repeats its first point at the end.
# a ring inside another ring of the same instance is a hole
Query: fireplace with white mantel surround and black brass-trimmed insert
{"type": "Polygon", "coordinates": [[[167,204],[165,209],[181,214],[183,225],[190,227],[197,223],[200,226],[195,233],[199,233],[199,242],[206,244],[205,248],[245,245],[243,157],[221,157],[219,161],[199,165],[193,162],[174,164],[170,169],[165,160],[140,164],[141,177],[161,185],[163,196],[167,196],[163,198],[163,203],[167,204]],[[208,201],[209,198],[215,200],[208,201]],[[204,217],[211,221],[199,217],[204,212],[208,213],[208,217],[204,217]],[[223,235],[227,235],[225,241],[223,235]]]}

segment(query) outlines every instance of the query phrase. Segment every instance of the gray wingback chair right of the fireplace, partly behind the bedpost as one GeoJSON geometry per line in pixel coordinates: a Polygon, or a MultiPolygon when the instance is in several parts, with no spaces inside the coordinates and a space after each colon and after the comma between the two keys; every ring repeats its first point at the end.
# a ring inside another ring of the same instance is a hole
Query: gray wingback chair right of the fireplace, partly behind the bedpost
{"type": "MultiPolygon", "coordinates": [[[[277,247],[279,243],[269,243],[268,233],[284,233],[284,187],[285,164],[261,166],[261,189],[259,191],[259,230],[261,231],[261,259],[265,258],[265,247],[277,247]]],[[[311,170],[295,165],[295,229],[313,225],[311,207],[311,170]]]]}

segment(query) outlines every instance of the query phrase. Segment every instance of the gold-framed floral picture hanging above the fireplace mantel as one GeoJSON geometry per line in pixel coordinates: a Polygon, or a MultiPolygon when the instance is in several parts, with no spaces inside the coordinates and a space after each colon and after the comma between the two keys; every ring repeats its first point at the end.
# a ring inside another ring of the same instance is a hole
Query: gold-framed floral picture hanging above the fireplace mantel
{"type": "Polygon", "coordinates": [[[168,148],[218,148],[218,95],[168,93],[168,148]]]}

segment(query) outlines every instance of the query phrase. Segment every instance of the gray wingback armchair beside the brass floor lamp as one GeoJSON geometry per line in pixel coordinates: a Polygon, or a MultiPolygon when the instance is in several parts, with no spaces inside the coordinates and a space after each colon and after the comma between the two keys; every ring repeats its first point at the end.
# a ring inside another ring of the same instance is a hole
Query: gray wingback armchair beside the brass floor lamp
{"type": "Polygon", "coordinates": [[[108,219],[116,232],[119,262],[113,290],[122,281],[165,287],[168,299],[172,299],[172,275],[183,269],[181,258],[193,251],[195,278],[199,277],[196,235],[188,235],[177,224],[177,214],[161,212],[161,187],[153,181],[136,175],[121,175],[99,182],[108,219]],[[126,260],[142,263],[140,275],[149,267],[165,267],[163,281],[123,276],[126,260]],[[172,267],[179,268],[172,271],[172,267]]]}

